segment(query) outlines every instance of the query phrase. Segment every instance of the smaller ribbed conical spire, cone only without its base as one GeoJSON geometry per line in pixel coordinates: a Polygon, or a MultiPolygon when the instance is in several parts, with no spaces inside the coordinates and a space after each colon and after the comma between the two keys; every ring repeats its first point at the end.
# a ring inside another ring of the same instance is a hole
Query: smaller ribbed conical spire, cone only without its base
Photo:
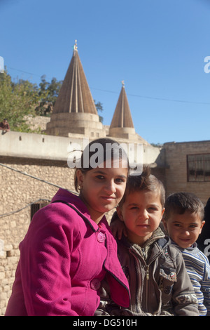
{"type": "Polygon", "coordinates": [[[110,128],[134,128],[127,95],[125,93],[124,81],[122,81],[122,84],[123,86],[120,91],[120,96],[118,98],[118,103],[113,114],[110,128]]]}

